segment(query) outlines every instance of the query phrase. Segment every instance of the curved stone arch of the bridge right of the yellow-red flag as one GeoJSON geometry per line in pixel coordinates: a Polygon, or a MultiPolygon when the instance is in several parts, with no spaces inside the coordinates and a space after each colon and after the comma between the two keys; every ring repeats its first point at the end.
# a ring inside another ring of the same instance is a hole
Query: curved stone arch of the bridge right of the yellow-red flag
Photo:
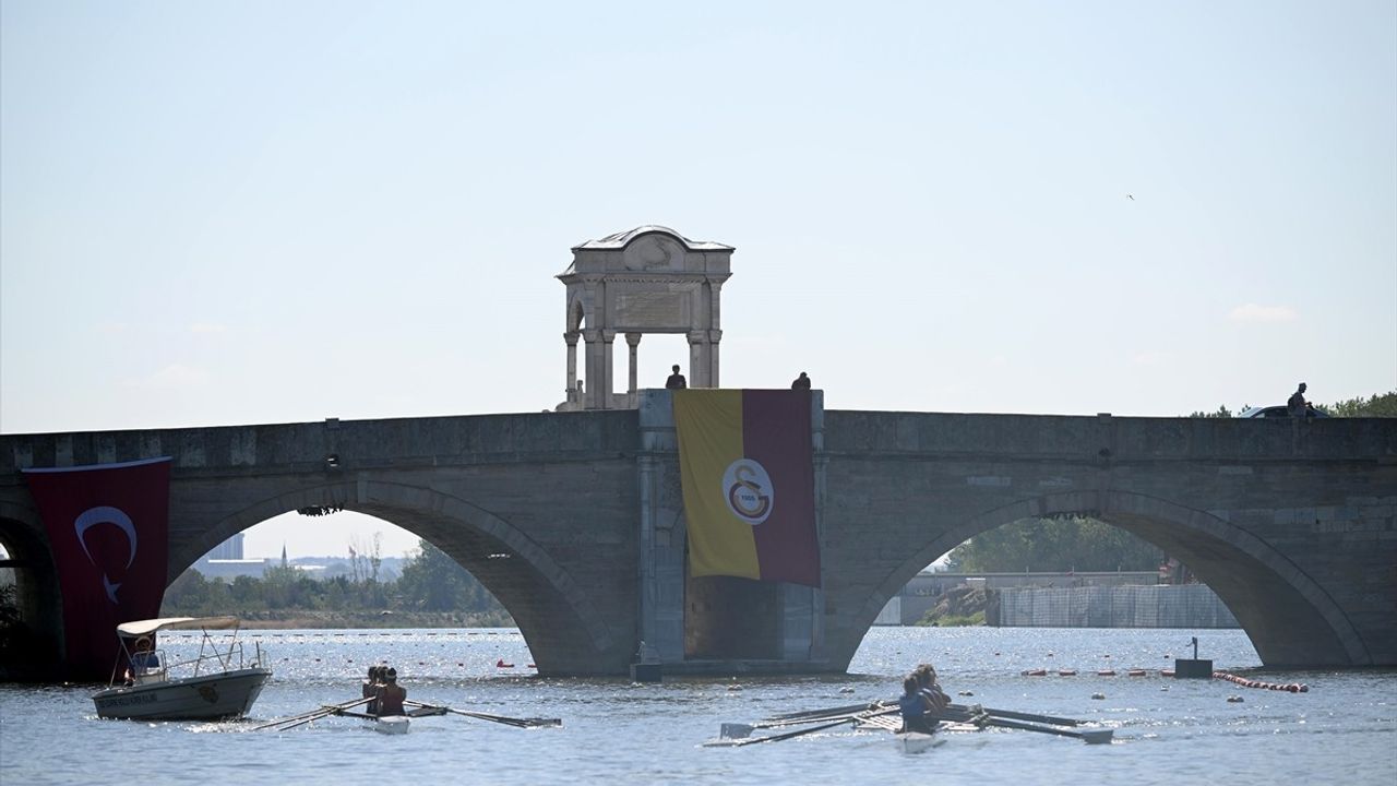
{"type": "Polygon", "coordinates": [[[1048,494],[985,510],[942,531],[890,573],[859,611],[866,631],[902,586],[965,540],[1023,519],[1076,513],[1120,527],[1182,559],[1227,604],[1266,666],[1370,666],[1343,607],[1299,565],[1224,515],[1127,491],[1048,494]]]}

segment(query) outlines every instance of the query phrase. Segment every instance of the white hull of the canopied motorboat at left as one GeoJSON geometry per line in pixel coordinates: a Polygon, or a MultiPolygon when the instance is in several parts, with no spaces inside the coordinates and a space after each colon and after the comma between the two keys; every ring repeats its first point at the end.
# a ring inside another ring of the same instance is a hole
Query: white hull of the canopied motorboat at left
{"type": "Polygon", "coordinates": [[[92,695],[98,717],[124,720],[219,720],[251,709],[270,669],[237,669],[108,688],[92,695]]]}

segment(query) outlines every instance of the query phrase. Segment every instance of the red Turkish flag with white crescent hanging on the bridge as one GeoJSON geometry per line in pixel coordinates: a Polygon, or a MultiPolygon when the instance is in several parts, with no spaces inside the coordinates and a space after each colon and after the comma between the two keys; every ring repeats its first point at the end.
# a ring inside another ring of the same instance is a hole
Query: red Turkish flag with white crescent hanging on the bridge
{"type": "Polygon", "coordinates": [[[169,552],[170,459],[24,470],[63,590],[70,676],[106,680],[116,627],[159,617],[169,552]]]}

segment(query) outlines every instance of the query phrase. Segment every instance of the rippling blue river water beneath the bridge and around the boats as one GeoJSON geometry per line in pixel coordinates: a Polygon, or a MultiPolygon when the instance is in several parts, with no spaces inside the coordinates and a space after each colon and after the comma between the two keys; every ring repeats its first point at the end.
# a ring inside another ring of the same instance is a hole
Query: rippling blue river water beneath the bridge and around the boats
{"type": "MultiPolygon", "coordinates": [[[[0,783],[1397,783],[1397,671],[1263,671],[1246,635],[1232,629],[1197,632],[1199,656],[1253,680],[1305,683],[1309,692],[1161,677],[1173,657],[1192,656],[1190,635],[875,628],[847,676],[640,685],[534,677],[514,629],[244,631],[275,670],[250,720],[99,720],[95,685],[0,685],[0,783]],[[339,717],[284,733],[250,730],[358,698],[359,678],[379,660],[397,667],[411,699],[560,717],[563,726],[444,716],[386,736],[339,717]],[[923,660],[937,666],[957,702],[1081,717],[1113,729],[1116,741],[992,730],[947,734],[926,754],[904,755],[887,733],[838,727],[757,745],[703,745],[725,722],[894,698],[904,673],[923,660]],[[1051,676],[1023,676],[1031,669],[1051,676]],[[1150,673],[1101,677],[1101,669],[1150,673]]],[[[197,649],[197,635],[162,636],[172,656],[197,649]]]]}

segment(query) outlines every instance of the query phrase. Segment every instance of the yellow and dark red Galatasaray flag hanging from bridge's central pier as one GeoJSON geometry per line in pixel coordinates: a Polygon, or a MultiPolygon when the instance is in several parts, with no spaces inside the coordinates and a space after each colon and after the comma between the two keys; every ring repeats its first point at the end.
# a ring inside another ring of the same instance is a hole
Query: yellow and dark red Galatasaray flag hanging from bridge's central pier
{"type": "Polygon", "coordinates": [[[820,586],[807,390],[675,390],[689,573],[820,586]]]}

